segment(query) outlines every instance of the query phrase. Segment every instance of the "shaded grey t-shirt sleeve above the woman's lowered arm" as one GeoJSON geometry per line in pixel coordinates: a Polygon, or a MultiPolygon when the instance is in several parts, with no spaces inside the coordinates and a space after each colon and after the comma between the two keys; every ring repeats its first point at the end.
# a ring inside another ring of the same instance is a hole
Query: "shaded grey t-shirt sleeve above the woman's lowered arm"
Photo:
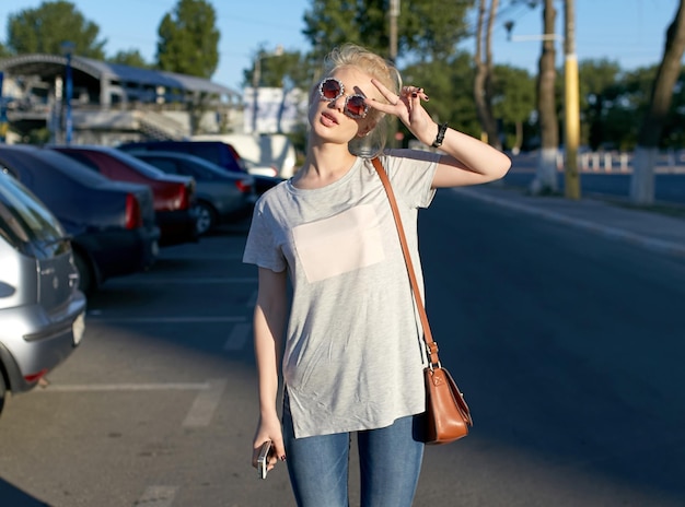
{"type": "Polygon", "coordinates": [[[264,202],[259,201],[253,212],[249,233],[243,252],[243,262],[257,264],[275,272],[286,269],[286,259],[276,241],[276,221],[265,209],[264,202]]]}

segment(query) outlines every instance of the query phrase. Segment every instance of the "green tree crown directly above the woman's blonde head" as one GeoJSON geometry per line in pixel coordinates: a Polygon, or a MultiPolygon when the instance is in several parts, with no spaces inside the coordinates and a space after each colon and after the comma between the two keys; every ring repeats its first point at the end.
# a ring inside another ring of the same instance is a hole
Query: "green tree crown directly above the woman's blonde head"
{"type": "MultiPolygon", "coordinates": [[[[473,0],[402,2],[397,19],[398,55],[444,59],[468,33],[466,12],[473,0]]],[[[385,57],[390,55],[388,0],[312,0],[304,13],[304,35],[314,58],[342,43],[355,43],[385,57]]]]}

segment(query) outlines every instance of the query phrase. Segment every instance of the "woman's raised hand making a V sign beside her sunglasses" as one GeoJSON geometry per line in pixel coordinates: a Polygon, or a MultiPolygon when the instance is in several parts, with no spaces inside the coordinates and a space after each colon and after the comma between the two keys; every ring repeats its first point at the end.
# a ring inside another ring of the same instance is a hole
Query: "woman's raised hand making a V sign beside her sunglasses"
{"type": "Polygon", "coordinates": [[[369,107],[399,118],[419,141],[427,144],[433,141],[436,137],[436,122],[421,105],[421,101],[428,101],[428,95],[426,95],[423,89],[403,86],[399,95],[396,95],[375,79],[372,79],[371,83],[373,83],[390,104],[367,99],[369,107]]]}

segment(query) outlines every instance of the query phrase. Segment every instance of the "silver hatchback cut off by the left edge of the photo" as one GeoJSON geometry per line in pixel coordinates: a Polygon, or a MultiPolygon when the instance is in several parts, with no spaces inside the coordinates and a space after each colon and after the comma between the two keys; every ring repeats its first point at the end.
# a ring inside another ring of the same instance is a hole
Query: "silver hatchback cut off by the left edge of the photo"
{"type": "Polygon", "coordinates": [[[84,332],[69,236],[31,191],[0,172],[0,412],[35,387],[84,332]]]}

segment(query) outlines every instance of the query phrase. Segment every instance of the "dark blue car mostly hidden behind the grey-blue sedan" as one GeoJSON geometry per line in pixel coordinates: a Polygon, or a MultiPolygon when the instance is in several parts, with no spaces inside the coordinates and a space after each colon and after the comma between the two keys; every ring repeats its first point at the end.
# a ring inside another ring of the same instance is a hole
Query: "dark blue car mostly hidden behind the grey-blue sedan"
{"type": "MultiPolygon", "coordinates": [[[[248,168],[233,145],[221,141],[143,141],[124,143],[117,148],[125,152],[146,150],[187,153],[205,158],[229,173],[248,174],[248,168]]],[[[260,174],[254,174],[253,177],[258,196],[283,180],[277,176],[260,174]]]]}

